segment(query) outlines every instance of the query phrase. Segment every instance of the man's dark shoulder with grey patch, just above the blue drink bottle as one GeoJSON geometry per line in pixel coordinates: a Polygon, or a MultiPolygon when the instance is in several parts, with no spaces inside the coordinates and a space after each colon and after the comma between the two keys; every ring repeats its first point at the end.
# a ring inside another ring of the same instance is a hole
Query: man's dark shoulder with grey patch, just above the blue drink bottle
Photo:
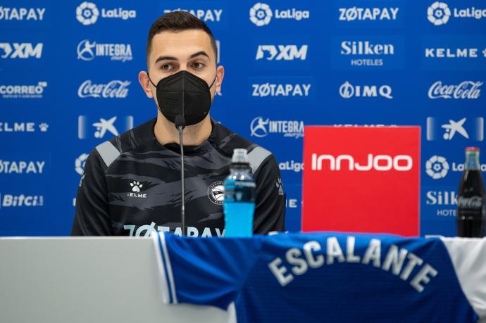
{"type": "Polygon", "coordinates": [[[219,123],[215,123],[214,127],[214,132],[209,140],[218,148],[218,151],[225,154],[225,156],[231,157],[233,149],[247,149],[250,166],[254,172],[263,165],[265,160],[273,158],[273,154],[268,149],[249,141],[227,127],[219,123]]]}

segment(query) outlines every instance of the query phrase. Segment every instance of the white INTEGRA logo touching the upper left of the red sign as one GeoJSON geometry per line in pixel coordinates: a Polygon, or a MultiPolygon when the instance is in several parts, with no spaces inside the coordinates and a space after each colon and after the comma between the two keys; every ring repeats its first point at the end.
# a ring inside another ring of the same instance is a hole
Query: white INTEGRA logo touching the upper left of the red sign
{"type": "Polygon", "coordinates": [[[301,120],[270,120],[256,117],[250,123],[250,135],[263,138],[268,134],[282,134],[283,137],[299,139],[304,137],[304,122],[301,120]]]}

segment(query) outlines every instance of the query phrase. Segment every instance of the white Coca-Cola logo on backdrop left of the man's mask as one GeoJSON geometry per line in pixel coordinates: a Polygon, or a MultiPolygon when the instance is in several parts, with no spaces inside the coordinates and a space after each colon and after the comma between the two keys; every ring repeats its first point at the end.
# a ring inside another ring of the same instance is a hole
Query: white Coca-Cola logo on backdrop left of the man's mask
{"type": "Polygon", "coordinates": [[[77,90],[80,98],[124,99],[128,96],[130,81],[112,80],[106,84],[92,84],[91,80],[82,82],[77,90]]]}

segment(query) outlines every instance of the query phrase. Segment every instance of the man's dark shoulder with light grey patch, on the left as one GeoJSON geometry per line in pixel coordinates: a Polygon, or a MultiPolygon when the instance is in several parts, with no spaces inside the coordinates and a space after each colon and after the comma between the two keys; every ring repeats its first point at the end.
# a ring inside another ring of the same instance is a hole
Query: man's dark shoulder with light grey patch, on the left
{"type": "Polygon", "coordinates": [[[149,120],[118,136],[102,142],[93,151],[99,154],[106,167],[109,167],[118,156],[133,151],[144,144],[154,141],[154,124],[156,119],[149,120]]]}

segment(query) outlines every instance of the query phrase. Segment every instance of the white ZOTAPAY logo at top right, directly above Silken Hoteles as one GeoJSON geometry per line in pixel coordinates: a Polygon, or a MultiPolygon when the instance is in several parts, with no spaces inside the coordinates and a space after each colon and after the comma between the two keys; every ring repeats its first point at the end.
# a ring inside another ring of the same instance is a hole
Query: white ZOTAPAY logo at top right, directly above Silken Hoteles
{"type": "Polygon", "coordinates": [[[399,7],[347,7],[338,8],[339,21],[392,21],[397,20],[399,7]]]}

